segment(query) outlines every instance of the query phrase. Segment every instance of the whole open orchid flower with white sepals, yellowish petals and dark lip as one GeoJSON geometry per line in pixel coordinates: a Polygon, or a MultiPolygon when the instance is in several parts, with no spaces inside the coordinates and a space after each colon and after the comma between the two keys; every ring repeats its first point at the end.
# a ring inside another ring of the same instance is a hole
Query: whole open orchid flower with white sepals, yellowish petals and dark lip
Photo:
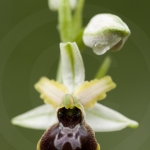
{"type": "Polygon", "coordinates": [[[15,125],[44,129],[37,150],[100,150],[94,131],[117,131],[138,123],[99,103],[116,87],[110,76],[84,81],[85,70],[76,43],[60,44],[62,81],[42,77],[35,89],[46,103],[12,119],[15,125]]]}

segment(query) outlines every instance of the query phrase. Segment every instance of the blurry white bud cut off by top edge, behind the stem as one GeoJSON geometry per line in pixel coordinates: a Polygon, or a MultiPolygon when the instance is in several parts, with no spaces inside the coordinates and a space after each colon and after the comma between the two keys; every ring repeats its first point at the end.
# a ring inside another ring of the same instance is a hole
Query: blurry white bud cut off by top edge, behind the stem
{"type": "MultiPolygon", "coordinates": [[[[71,9],[75,9],[77,0],[69,0],[71,9]]],[[[48,0],[48,6],[52,11],[57,11],[59,8],[60,0],[48,0]]]]}

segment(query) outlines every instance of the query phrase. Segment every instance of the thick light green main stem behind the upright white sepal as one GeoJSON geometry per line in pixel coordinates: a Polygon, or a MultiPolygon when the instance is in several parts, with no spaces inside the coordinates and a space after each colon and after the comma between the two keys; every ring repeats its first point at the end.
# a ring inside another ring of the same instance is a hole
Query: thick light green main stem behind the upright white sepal
{"type": "MultiPolygon", "coordinates": [[[[59,34],[62,42],[76,41],[80,49],[85,45],[82,41],[82,10],[85,0],[78,0],[77,8],[72,18],[69,0],[60,0],[58,11],[59,34]]],[[[56,80],[62,82],[61,60],[59,60],[56,80]]]]}

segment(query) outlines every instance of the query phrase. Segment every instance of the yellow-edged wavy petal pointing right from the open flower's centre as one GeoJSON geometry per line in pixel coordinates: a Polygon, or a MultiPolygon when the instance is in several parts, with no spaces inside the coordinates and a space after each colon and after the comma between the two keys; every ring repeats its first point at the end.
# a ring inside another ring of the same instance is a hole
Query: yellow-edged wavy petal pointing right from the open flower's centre
{"type": "Polygon", "coordinates": [[[100,80],[95,79],[90,82],[86,81],[80,85],[74,92],[74,96],[80,100],[84,108],[93,107],[97,100],[106,97],[106,92],[116,87],[110,76],[105,76],[100,80]]]}

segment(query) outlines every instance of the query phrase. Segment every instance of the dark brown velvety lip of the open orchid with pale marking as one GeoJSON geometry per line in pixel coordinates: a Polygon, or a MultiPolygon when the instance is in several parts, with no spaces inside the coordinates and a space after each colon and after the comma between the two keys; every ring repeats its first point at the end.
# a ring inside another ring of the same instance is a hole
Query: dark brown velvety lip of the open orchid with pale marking
{"type": "Polygon", "coordinates": [[[92,129],[78,108],[60,108],[59,123],[48,129],[40,140],[40,150],[99,150],[92,129]]]}

